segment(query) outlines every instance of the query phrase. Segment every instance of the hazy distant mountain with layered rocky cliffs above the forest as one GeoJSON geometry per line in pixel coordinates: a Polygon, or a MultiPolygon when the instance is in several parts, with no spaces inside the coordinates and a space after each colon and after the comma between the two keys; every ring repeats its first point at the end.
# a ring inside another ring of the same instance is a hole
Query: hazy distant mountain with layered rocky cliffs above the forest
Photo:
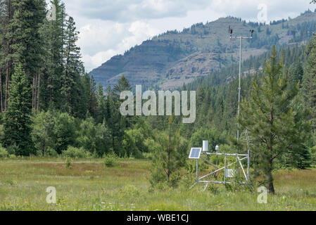
{"type": "Polygon", "coordinates": [[[304,27],[298,25],[312,21],[316,23],[316,13],[310,11],[296,19],[272,25],[246,23],[232,17],[220,18],[206,25],[196,24],[182,32],[166,32],[144,41],[124,56],[114,56],[92,70],[90,75],[104,87],[114,86],[125,75],[133,86],[158,85],[160,89],[175,89],[238,61],[239,41],[229,39],[229,25],[236,35],[249,36],[249,31],[255,30],[253,40],[244,41],[243,56],[246,59],[264,53],[272,44],[295,43],[293,30],[297,32],[297,27],[304,27]]]}

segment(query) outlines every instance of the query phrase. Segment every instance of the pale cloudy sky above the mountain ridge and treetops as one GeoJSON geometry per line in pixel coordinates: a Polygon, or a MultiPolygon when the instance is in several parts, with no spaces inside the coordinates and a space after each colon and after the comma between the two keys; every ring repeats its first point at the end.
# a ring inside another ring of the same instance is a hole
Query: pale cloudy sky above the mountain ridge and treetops
{"type": "Polygon", "coordinates": [[[80,30],[86,70],[167,30],[233,15],[258,21],[295,18],[310,0],[65,0],[80,30]],[[265,9],[266,15],[265,18],[265,9]]]}

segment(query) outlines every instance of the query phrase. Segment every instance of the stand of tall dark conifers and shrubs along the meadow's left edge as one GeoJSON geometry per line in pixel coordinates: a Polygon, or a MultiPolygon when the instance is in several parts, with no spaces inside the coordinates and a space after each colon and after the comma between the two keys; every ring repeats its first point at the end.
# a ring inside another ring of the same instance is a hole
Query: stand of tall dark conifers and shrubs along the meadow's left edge
{"type": "Polygon", "coordinates": [[[44,0],[0,1],[1,144],[16,155],[62,153],[68,146],[87,147],[73,135],[76,127],[93,124],[91,132],[104,144],[94,140],[91,152],[122,154],[123,128],[130,124],[117,110],[118,93],[130,87],[118,84],[103,94],[84,71],[74,19],[61,0],[51,4],[56,18],[49,20],[44,0]]]}

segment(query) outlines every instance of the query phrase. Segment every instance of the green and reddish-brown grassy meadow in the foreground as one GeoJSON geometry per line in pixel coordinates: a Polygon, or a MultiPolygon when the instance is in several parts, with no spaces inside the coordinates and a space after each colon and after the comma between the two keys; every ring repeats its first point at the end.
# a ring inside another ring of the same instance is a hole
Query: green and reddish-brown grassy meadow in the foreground
{"type": "Polygon", "coordinates": [[[180,187],[148,191],[150,162],[120,160],[106,168],[101,160],[78,160],[71,169],[65,160],[0,161],[0,210],[316,210],[316,169],[279,171],[277,195],[267,204],[259,193],[188,191],[180,187]],[[56,188],[57,203],[46,203],[46,188],[56,188]]]}

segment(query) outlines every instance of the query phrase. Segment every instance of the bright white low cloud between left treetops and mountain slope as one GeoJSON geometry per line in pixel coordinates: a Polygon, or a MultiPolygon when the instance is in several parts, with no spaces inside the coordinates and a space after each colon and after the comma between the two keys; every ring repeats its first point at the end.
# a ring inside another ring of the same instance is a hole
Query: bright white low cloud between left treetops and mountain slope
{"type": "Polygon", "coordinates": [[[78,44],[82,48],[82,60],[86,70],[98,67],[112,56],[122,54],[159,33],[160,30],[144,21],[122,24],[99,20],[94,21],[94,24],[85,25],[80,28],[78,44]]]}

